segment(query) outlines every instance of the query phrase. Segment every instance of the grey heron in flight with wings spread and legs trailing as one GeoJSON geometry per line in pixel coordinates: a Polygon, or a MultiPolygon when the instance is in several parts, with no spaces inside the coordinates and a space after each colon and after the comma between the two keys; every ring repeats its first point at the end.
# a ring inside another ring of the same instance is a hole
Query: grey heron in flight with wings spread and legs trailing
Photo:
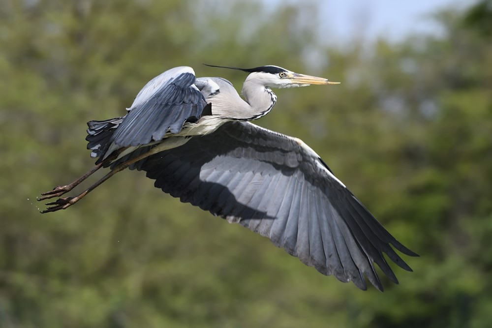
{"type": "Polygon", "coordinates": [[[376,220],[313,149],[251,122],[275,106],[271,88],[338,83],[276,65],[207,66],[246,72],[243,98],[226,79],[197,78],[189,66],[163,72],[140,90],[125,116],[87,123],[95,166],[38,200],[62,196],[100,168],[109,167],[109,173],[41,212],[66,209],[116,173],[136,169],[163,192],[239,223],[305,265],[362,290],[366,279],[384,290],[374,264],[399,283],[383,253],[412,271],[395,249],[418,255],[376,220]]]}

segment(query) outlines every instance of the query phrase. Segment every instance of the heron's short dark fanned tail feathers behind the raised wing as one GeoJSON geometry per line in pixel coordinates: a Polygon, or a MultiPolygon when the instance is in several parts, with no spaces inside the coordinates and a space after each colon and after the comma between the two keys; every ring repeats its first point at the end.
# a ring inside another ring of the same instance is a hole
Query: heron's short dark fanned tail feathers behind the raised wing
{"type": "Polygon", "coordinates": [[[123,118],[114,118],[106,120],[92,120],[87,122],[88,141],[87,149],[91,149],[91,157],[104,157],[104,154],[109,148],[111,136],[116,128],[123,121],[123,118]]]}

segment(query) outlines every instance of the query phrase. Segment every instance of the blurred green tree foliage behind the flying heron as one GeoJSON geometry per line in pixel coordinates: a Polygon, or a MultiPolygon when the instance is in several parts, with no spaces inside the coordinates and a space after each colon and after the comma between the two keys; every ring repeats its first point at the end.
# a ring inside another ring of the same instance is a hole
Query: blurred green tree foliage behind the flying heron
{"type": "Polygon", "coordinates": [[[317,1],[264,3],[0,0],[0,327],[490,327],[491,1],[435,13],[440,36],[344,46],[312,28],[317,1]],[[39,214],[40,192],[92,167],[85,122],[155,75],[190,65],[241,88],[202,62],[342,82],[277,90],[256,123],[315,149],[421,254],[415,272],[362,292],[142,172],[39,214]]]}

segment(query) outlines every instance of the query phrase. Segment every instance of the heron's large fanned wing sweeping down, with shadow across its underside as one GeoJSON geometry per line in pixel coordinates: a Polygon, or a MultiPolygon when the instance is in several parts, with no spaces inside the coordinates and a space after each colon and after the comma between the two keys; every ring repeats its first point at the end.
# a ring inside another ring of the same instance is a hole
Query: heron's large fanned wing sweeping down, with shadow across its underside
{"type": "Polygon", "coordinates": [[[364,275],[383,290],[373,263],[398,283],[383,252],[411,270],[391,245],[416,254],[391,236],[299,139],[249,122],[228,122],[139,164],[164,192],[240,223],[304,264],[363,290],[364,275]]]}

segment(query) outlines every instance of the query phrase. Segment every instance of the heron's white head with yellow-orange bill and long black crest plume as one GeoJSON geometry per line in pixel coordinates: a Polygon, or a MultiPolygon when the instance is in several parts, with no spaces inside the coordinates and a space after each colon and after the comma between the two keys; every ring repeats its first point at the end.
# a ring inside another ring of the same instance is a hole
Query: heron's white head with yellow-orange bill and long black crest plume
{"type": "Polygon", "coordinates": [[[248,72],[249,75],[246,78],[246,81],[254,81],[269,88],[296,88],[306,87],[312,84],[339,84],[339,82],[331,82],[325,78],[295,73],[275,65],[259,66],[255,68],[238,68],[215,65],[207,66],[237,69],[248,72]]]}

